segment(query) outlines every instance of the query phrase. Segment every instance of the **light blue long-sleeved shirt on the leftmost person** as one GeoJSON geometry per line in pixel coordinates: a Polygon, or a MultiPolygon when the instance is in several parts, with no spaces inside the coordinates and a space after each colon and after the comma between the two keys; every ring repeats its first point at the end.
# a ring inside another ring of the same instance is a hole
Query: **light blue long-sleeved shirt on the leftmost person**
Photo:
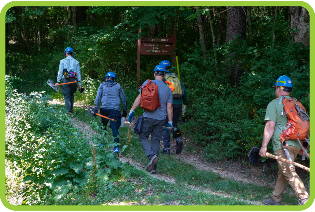
{"type": "Polygon", "coordinates": [[[65,77],[63,76],[63,69],[66,68],[68,71],[74,71],[77,73],[77,80],[79,85],[81,85],[81,71],[80,71],[80,64],[79,62],[74,59],[72,56],[68,56],[63,60],[60,60],[59,71],[57,82],[63,80],[65,77]]]}

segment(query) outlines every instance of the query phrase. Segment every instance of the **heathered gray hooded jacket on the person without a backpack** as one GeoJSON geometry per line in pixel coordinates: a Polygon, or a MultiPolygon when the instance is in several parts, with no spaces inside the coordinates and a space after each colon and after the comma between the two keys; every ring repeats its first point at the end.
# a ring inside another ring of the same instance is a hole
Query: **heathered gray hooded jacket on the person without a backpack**
{"type": "Polygon", "coordinates": [[[100,101],[102,101],[101,108],[120,111],[119,96],[123,102],[123,110],[127,111],[127,98],[120,84],[112,80],[103,82],[97,90],[95,109],[98,109],[100,101]]]}

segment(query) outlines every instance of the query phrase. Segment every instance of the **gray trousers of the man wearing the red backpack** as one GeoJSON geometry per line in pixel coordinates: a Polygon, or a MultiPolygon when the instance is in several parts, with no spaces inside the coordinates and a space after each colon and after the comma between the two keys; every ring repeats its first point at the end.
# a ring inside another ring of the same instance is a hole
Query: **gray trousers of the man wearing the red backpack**
{"type": "Polygon", "coordinates": [[[141,132],[139,133],[139,140],[146,153],[146,156],[150,159],[153,155],[158,157],[160,151],[160,140],[162,139],[162,130],[164,126],[164,120],[157,120],[153,118],[143,118],[141,125],[141,132]],[[151,144],[148,140],[150,133],[151,144]]]}

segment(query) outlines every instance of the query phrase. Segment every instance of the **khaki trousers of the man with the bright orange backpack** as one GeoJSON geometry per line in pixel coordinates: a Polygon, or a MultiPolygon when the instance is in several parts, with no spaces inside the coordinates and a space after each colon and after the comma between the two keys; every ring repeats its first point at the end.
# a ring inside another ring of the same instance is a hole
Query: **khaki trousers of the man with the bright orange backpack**
{"type": "MultiPolygon", "coordinates": [[[[288,146],[287,150],[292,159],[293,158],[295,159],[297,154],[300,152],[300,149],[296,148],[295,146],[288,146]]],[[[275,155],[280,158],[288,159],[283,149],[277,150],[275,152],[275,155]]],[[[279,171],[278,171],[279,176],[278,176],[278,180],[275,186],[275,190],[272,192],[273,199],[276,200],[277,202],[281,201],[282,193],[285,190],[287,181],[289,181],[290,186],[295,191],[297,198],[300,198],[300,199],[309,198],[309,195],[305,190],[302,180],[295,172],[295,166],[290,167],[289,163],[284,163],[279,160],[277,160],[277,162],[279,166],[279,171]]]]}

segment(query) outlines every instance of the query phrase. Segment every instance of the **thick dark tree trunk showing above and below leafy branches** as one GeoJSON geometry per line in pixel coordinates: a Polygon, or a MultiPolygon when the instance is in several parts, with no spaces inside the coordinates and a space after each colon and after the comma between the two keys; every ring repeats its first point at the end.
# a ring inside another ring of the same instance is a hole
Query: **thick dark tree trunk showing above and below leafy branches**
{"type": "MultiPolygon", "coordinates": [[[[241,39],[245,40],[246,37],[246,14],[242,7],[227,7],[226,14],[226,43],[229,43],[238,34],[241,35],[241,39]]],[[[230,72],[231,85],[238,86],[240,77],[242,76],[242,65],[238,62],[238,55],[230,54],[227,58],[228,68],[226,72],[230,72]]]]}

